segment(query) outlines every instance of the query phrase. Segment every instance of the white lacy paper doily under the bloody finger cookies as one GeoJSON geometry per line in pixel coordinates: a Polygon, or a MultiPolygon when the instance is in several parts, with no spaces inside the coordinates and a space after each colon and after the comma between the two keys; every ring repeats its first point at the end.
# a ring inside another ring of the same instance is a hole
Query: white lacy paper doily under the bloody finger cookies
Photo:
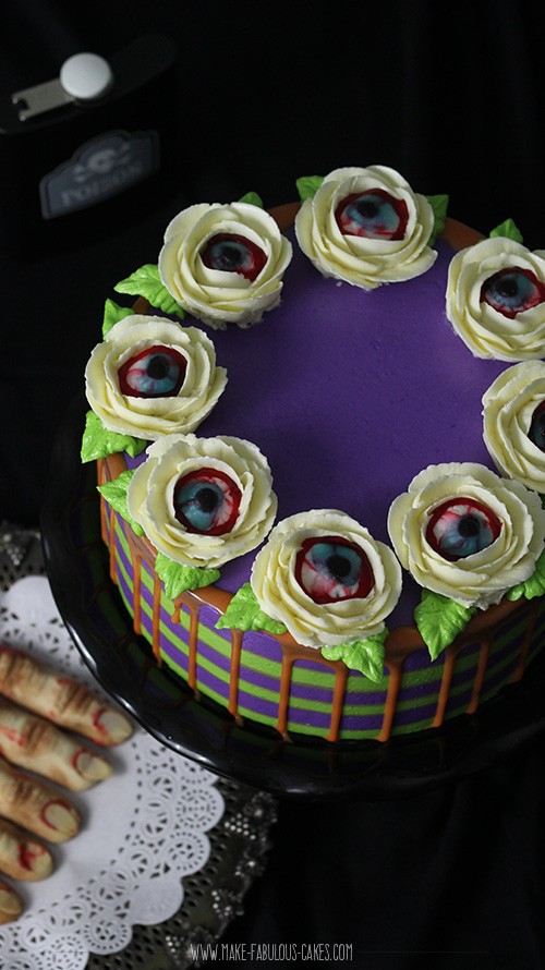
{"type": "MultiPolygon", "coordinates": [[[[26,577],[0,592],[0,640],[101,693],[44,577],[26,577]]],[[[130,942],[133,924],[161,922],[180,908],[182,877],[208,859],[206,833],[225,811],[215,775],[138,727],[124,744],[100,753],[113,775],[82,795],[70,793],[82,829],[52,847],[52,875],[17,883],[25,912],[0,930],[0,970],[82,970],[89,953],[117,953],[130,942]]]]}

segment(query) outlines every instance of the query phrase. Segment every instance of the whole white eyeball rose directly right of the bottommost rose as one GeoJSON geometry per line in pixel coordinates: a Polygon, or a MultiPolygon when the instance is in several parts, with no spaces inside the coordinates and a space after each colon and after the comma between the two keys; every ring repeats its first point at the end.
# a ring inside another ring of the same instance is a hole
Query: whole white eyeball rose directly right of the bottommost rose
{"type": "Polygon", "coordinates": [[[421,586],[485,609],[532,575],[545,511],[535,492],[472,462],[429,465],[390,506],[388,531],[421,586]]]}

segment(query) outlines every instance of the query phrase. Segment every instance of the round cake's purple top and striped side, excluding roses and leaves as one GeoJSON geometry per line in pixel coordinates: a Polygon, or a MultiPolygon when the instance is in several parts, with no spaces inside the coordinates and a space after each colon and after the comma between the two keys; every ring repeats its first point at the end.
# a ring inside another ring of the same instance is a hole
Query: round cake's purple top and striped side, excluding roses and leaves
{"type": "MultiPolygon", "coordinates": [[[[423,469],[476,462],[495,470],[483,440],[482,398],[507,364],[475,357],[445,311],[455,250],[482,237],[447,220],[427,271],[367,292],[316,270],[288,228],[295,210],[275,213],[293,244],[278,306],[246,329],[182,323],[207,331],[228,373],[196,434],[235,436],[261,449],[278,520],[338,509],[390,544],[391,502],[423,469]]],[[[142,302],[135,308],[149,312],[142,302]]],[[[100,460],[99,483],[145,458],[100,460]]],[[[543,598],[504,599],[479,610],[432,660],[413,620],[422,591],[403,571],[387,620],[384,676],[373,682],[287,632],[218,628],[257,550],[222,566],[214,585],[172,601],[155,572],[152,543],[104,500],[102,534],[112,579],[158,660],[238,719],[283,736],[387,740],[438,726],[520,679],[543,640],[543,598]]]]}

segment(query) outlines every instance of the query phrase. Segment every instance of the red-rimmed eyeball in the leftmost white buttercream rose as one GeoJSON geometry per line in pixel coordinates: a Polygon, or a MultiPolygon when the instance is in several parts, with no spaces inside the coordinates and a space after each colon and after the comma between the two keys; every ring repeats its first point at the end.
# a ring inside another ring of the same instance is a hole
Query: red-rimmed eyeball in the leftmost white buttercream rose
{"type": "Polygon", "coordinates": [[[171,347],[149,347],[119,368],[119,388],[130,398],[174,398],[185,378],[187,362],[171,347]]]}

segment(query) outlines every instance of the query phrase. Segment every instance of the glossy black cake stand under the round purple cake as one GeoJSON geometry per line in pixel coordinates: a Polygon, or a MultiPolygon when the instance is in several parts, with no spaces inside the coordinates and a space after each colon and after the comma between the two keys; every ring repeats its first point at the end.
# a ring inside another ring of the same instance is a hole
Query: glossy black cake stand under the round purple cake
{"type": "Polygon", "coordinates": [[[44,555],[59,611],[102,688],[164,744],[217,774],[276,796],[390,799],[492,767],[545,726],[545,656],[532,676],[477,713],[441,728],[378,741],[284,741],[193,692],[137,636],[109,575],[95,464],[82,465],[87,405],[66,412],[53,448],[41,516],[44,555]]]}

